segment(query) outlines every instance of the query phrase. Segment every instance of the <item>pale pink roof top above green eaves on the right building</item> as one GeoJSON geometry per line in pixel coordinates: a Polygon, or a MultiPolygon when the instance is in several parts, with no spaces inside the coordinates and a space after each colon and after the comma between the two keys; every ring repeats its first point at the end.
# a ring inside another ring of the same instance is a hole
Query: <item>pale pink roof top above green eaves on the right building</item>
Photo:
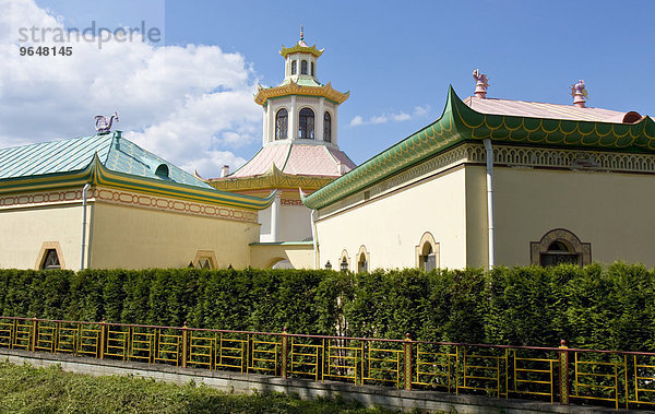
{"type": "Polygon", "coordinates": [[[469,96],[464,103],[472,109],[481,114],[509,115],[532,118],[568,119],[576,121],[614,122],[622,123],[626,119],[633,122],[641,116],[636,113],[620,113],[602,108],[579,108],[573,105],[543,104],[538,102],[509,100],[496,98],[479,98],[469,96]],[[635,119],[636,118],[636,119],[635,119]]]}

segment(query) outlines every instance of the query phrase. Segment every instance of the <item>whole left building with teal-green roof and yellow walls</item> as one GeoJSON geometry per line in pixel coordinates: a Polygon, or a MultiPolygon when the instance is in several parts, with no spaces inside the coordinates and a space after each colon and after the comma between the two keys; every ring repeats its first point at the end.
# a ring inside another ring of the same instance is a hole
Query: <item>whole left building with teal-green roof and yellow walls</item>
{"type": "Polygon", "coordinates": [[[120,132],[0,150],[0,267],[246,268],[258,212],[120,132]]]}

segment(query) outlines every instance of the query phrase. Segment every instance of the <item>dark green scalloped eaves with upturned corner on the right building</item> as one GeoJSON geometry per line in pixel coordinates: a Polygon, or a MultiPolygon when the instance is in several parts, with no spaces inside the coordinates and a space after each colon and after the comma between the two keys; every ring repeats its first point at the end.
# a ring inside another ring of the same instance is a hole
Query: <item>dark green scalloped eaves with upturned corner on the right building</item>
{"type": "Polygon", "coordinates": [[[441,117],[348,174],[302,198],[321,209],[463,142],[655,154],[655,122],[610,123],[480,114],[449,87],[441,117]]]}

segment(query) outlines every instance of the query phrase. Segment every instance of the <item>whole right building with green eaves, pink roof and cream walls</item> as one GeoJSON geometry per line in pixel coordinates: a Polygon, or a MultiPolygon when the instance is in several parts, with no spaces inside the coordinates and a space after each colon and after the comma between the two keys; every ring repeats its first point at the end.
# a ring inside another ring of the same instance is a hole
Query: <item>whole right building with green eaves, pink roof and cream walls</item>
{"type": "Polygon", "coordinates": [[[655,265],[655,122],[454,91],[443,115],[303,198],[322,267],[655,265]]]}

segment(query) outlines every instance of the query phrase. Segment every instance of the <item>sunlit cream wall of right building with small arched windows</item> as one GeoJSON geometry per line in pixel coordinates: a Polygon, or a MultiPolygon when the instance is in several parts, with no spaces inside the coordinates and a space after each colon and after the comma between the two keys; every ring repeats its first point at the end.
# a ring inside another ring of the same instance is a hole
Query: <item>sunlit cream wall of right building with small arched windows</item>
{"type": "Polygon", "coordinates": [[[466,171],[457,167],[409,187],[373,198],[317,223],[321,268],[338,270],[342,251],[350,270],[364,245],[369,269],[416,267],[416,247],[429,232],[442,268],[466,267],[466,171]]]}

